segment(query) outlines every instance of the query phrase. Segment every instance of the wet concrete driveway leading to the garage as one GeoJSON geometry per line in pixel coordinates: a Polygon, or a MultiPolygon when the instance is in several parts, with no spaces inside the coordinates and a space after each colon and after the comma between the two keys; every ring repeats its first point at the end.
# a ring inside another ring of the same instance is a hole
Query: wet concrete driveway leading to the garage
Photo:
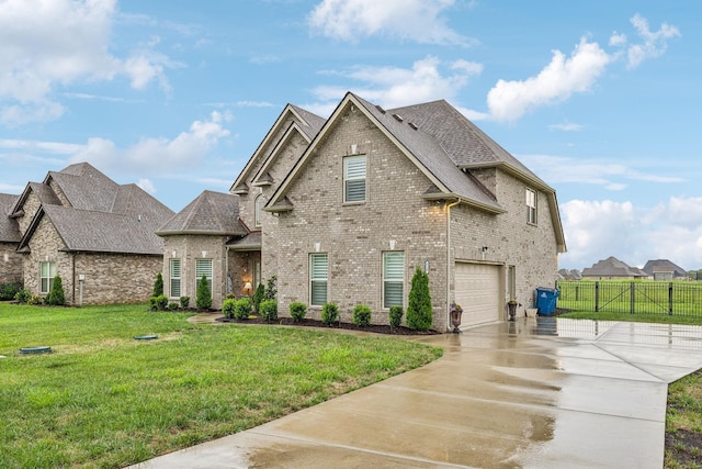
{"type": "Polygon", "coordinates": [[[134,468],[660,468],[667,384],[702,367],[700,326],[520,317],[417,340],[443,358],[134,468]]]}

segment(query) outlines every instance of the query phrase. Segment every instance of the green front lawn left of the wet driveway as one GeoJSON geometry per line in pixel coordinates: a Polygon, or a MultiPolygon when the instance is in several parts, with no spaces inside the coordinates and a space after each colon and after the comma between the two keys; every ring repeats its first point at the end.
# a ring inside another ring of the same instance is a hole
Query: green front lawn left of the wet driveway
{"type": "Polygon", "coordinates": [[[193,325],[145,305],[0,303],[0,467],[122,467],[424,365],[393,337],[193,325]],[[157,340],[135,340],[156,334],[157,340]],[[24,356],[22,347],[53,354],[24,356]]]}

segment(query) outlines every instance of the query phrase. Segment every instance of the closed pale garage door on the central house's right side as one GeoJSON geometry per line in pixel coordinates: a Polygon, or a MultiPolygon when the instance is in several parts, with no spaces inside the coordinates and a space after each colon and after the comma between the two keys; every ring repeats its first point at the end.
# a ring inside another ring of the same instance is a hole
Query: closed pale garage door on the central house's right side
{"type": "Polygon", "coordinates": [[[500,268],[483,264],[456,263],[456,303],[463,308],[462,325],[499,321],[500,268]]]}

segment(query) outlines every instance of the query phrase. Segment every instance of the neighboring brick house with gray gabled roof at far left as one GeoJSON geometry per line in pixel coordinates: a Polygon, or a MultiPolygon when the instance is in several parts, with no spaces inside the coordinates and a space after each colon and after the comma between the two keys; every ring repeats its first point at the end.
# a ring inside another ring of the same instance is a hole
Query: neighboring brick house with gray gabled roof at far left
{"type": "Polygon", "coordinates": [[[163,263],[154,233],[173,215],[135,185],[87,163],[27,183],[10,211],[24,288],[46,295],[56,275],[69,304],[146,301],[163,263]]]}

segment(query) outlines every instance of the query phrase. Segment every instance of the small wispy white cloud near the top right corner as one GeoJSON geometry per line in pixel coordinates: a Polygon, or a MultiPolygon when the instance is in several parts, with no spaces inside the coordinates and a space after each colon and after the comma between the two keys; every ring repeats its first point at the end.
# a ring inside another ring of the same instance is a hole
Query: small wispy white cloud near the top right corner
{"type": "Polygon", "coordinates": [[[681,35],[680,30],[668,23],[663,23],[658,31],[650,31],[648,20],[638,13],[631,19],[631,23],[643,43],[629,44],[626,35],[616,32],[610,37],[610,45],[626,48],[627,68],[636,68],[647,58],[659,57],[667,51],[668,40],[681,35]]]}

